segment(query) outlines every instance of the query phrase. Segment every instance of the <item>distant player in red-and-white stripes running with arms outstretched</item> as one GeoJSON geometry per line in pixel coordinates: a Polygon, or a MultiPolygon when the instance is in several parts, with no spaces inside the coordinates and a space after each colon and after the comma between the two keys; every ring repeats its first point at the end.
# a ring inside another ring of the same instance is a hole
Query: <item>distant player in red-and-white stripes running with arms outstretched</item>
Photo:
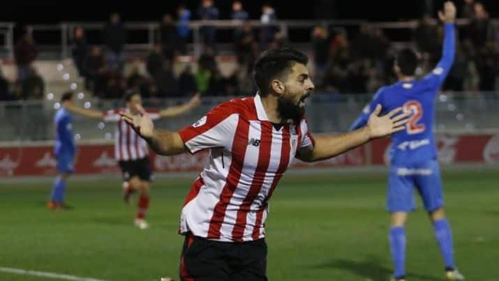
{"type": "MultiPolygon", "coordinates": [[[[87,116],[89,118],[101,119],[107,122],[117,122],[114,131],[114,158],[117,160],[121,172],[124,176],[124,200],[128,203],[130,195],[139,190],[140,196],[135,215],[135,225],[140,229],[147,229],[149,224],[144,220],[149,208],[149,187],[151,185],[151,163],[149,162],[149,152],[147,144],[137,135],[128,124],[121,120],[119,112],[126,112],[132,116],[138,114],[135,105],[142,105],[142,98],[137,91],[131,91],[125,96],[126,107],[120,109],[100,112],[93,109],[84,109],[68,106],[71,112],[87,116]]],[[[168,107],[167,109],[147,109],[145,113],[151,120],[165,117],[174,117],[188,110],[197,107],[200,103],[200,96],[195,95],[184,105],[168,107]]]]}

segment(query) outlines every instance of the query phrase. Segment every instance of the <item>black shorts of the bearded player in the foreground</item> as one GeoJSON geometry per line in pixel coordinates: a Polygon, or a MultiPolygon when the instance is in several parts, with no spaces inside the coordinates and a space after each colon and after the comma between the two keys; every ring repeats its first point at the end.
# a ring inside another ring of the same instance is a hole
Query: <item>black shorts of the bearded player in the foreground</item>
{"type": "Polygon", "coordinates": [[[265,239],[243,243],[188,235],[180,259],[182,281],[267,281],[265,239]]]}

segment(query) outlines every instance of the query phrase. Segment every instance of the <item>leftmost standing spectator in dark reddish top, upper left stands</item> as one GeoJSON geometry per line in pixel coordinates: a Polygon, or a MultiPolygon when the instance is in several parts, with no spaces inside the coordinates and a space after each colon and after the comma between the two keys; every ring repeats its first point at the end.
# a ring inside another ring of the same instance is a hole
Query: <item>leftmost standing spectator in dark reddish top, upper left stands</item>
{"type": "Polygon", "coordinates": [[[27,79],[31,63],[38,56],[38,48],[29,33],[24,33],[14,47],[15,63],[17,65],[17,82],[21,83],[27,79]]]}

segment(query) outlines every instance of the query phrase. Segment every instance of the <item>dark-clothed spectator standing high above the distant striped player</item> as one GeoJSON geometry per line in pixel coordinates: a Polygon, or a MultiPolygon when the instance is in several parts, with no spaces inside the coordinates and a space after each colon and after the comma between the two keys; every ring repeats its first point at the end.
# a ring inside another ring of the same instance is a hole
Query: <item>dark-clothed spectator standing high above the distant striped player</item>
{"type": "Polygon", "coordinates": [[[110,22],[104,28],[105,59],[111,70],[121,70],[123,66],[123,48],[126,43],[126,30],[121,23],[119,13],[110,15],[110,22]]]}

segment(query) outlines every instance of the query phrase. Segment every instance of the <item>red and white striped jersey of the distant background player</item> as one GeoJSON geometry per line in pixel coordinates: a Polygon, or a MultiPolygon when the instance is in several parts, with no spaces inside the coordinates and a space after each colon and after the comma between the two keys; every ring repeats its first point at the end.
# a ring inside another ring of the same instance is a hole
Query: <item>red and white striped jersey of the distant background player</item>
{"type": "MultiPolygon", "coordinates": [[[[104,113],[103,120],[117,122],[114,130],[114,159],[117,161],[137,160],[149,154],[147,142],[125,121],[121,120],[119,112],[130,112],[128,109],[108,110],[104,113]]],[[[152,120],[159,119],[159,110],[147,109],[146,113],[152,120]]]]}

